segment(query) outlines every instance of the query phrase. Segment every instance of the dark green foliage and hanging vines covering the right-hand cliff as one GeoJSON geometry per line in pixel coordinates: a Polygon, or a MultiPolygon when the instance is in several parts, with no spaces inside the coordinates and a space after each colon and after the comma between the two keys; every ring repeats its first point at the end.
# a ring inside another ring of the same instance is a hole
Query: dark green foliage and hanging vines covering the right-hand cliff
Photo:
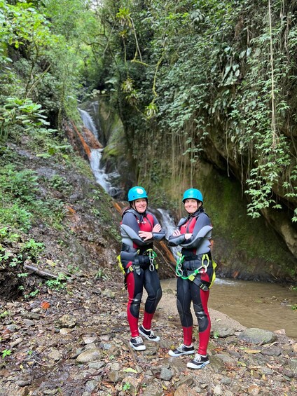
{"type": "Polygon", "coordinates": [[[105,1],[109,92],[141,182],[160,190],[156,159],[164,186],[195,184],[211,145],[241,168],[251,217],[296,206],[296,6],[271,3],[105,1]]]}

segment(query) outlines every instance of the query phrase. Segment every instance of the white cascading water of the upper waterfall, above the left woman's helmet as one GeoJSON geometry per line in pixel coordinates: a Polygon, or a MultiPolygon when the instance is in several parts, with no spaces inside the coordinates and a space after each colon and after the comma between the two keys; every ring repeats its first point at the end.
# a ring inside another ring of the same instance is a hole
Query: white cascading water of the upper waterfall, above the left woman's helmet
{"type": "MultiPolygon", "coordinates": [[[[88,128],[92,132],[92,134],[96,137],[96,139],[99,139],[99,132],[97,130],[97,127],[95,125],[95,122],[92,120],[92,117],[88,113],[88,111],[78,109],[79,113],[81,114],[81,120],[83,121],[83,125],[85,128],[88,128]]],[[[109,193],[110,196],[116,197],[118,196],[122,191],[116,186],[113,186],[111,183],[112,179],[116,179],[116,177],[119,177],[117,172],[112,172],[112,173],[106,173],[105,167],[102,167],[101,165],[101,159],[102,159],[102,151],[104,149],[90,149],[90,168],[92,170],[92,173],[96,179],[96,182],[100,184],[106,191],[106,193],[109,193]]]]}

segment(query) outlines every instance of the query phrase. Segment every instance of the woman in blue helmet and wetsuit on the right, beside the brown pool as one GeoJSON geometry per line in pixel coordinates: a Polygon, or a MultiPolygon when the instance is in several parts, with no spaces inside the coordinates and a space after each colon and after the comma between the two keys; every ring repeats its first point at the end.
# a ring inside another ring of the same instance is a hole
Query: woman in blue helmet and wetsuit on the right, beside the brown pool
{"type": "Polygon", "coordinates": [[[214,277],[212,254],[210,252],[212,224],[203,209],[202,193],[198,189],[188,189],[183,196],[183,217],[177,230],[168,238],[170,246],[181,246],[181,256],[177,262],[177,310],[184,333],[184,343],[169,355],[178,357],[195,353],[193,346],[193,316],[191,302],[198,319],[199,348],[187,367],[201,369],[209,364],[207,346],[210,334],[210,318],[207,309],[209,286],[214,277]]]}

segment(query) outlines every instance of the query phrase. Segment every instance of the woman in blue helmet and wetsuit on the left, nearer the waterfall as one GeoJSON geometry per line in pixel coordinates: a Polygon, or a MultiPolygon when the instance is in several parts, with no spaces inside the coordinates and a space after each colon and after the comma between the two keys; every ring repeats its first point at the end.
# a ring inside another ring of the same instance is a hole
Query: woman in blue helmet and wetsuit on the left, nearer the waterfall
{"type": "Polygon", "coordinates": [[[141,339],[159,341],[151,329],[153,315],[162,297],[162,289],[154,258],[153,240],[162,240],[162,231],[155,215],[148,212],[148,196],[141,186],[128,191],[130,207],[123,211],[120,232],[122,249],[120,263],[125,272],[125,287],[128,292],[127,320],[130,326],[130,346],[134,350],[145,350],[141,339]],[[148,294],[144,306],[142,325],[138,327],[139,308],[143,288],[148,294]],[[139,336],[141,334],[141,336],[139,336]]]}

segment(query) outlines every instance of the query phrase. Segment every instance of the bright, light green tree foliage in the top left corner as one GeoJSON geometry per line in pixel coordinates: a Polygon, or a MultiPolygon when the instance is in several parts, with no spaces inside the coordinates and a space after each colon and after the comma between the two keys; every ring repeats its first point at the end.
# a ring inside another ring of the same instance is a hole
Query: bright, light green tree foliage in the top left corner
{"type": "Polygon", "coordinates": [[[95,74],[101,30],[83,0],[13,3],[0,1],[2,140],[17,125],[61,128],[65,116],[78,119],[77,95],[85,70],[95,74]]]}

